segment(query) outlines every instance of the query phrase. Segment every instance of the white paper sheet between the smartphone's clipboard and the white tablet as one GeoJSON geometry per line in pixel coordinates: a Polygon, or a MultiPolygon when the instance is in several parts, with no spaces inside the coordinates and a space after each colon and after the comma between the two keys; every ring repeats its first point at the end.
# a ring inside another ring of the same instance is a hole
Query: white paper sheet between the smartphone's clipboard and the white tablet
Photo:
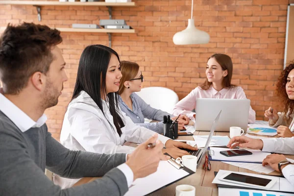
{"type": "Polygon", "coordinates": [[[230,164],[233,166],[237,166],[239,168],[244,168],[247,170],[251,170],[253,172],[259,172],[259,173],[271,173],[274,171],[269,165],[262,166],[261,163],[237,163],[237,162],[228,162],[228,161],[222,161],[223,163],[230,164]]]}

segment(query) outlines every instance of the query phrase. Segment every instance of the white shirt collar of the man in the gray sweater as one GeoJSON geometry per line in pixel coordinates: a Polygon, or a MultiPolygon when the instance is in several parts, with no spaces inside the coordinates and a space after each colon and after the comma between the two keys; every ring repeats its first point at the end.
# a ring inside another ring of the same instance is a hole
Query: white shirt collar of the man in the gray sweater
{"type": "Polygon", "coordinates": [[[22,132],[32,127],[41,127],[47,116],[43,114],[37,122],[34,122],[20,108],[14,105],[8,98],[0,93],[0,111],[3,112],[22,132]]]}

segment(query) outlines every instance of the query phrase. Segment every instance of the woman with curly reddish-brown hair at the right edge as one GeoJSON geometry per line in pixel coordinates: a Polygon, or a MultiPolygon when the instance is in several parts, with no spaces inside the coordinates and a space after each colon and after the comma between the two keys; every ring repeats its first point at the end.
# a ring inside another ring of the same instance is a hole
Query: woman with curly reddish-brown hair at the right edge
{"type": "Polygon", "coordinates": [[[281,73],[277,87],[277,95],[284,103],[284,112],[277,112],[270,107],[265,111],[265,117],[270,119],[270,126],[277,127],[278,136],[294,137],[294,62],[281,73]]]}

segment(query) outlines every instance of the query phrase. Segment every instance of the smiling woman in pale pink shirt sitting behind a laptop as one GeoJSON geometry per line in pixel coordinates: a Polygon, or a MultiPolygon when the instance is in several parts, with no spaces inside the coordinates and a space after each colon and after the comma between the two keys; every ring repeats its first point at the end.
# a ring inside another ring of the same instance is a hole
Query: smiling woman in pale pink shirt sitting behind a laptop
{"type": "MultiPolygon", "coordinates": [[[[209,57],[205,73],[206,81],[174,106],[173,115],[184,114],[194,120],[195,112],[192,110],[196,107],[196,98],[246,98],[242,87],[231,84],[233,63],[228,55],[213,54],[209,57]]],[[[255,111],[250,106],[248,123],[254,122],[255,111]]]]}

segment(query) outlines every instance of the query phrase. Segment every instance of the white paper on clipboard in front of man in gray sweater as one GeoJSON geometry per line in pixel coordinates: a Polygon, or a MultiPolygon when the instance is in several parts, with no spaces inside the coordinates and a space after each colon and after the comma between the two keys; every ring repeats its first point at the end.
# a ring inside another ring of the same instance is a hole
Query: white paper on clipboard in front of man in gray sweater
{"type": "Polygon", "coordinates": [[[145,196],[188,174],[184,170],[177,170],[168,161],[160,161],[157,172],[136,179],[124,196],[145,196]]]}

